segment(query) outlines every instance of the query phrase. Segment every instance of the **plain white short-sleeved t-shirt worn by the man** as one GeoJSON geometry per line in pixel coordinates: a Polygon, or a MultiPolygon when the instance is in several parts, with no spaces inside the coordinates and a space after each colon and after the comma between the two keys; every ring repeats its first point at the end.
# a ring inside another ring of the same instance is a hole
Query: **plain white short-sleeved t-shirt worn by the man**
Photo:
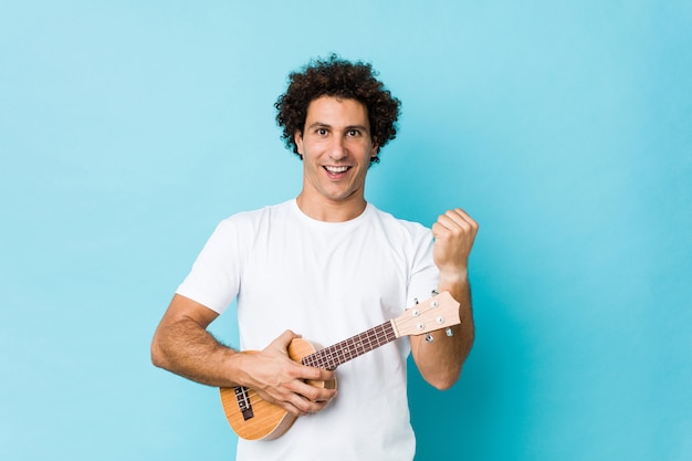
{"type": "MultiPolygon", "coordinates": [[[[400,315],[438,284],[432,233],[371,205],[346,222],[295,200],[222,221],[177,293],[222,313],[238,297],[241,348],[285,329],[329,346],[400,315]]],[[[238,444],[238,460],[412,460],[407,337],[336,370],[338,396],[281,438],[238,444]]]]}

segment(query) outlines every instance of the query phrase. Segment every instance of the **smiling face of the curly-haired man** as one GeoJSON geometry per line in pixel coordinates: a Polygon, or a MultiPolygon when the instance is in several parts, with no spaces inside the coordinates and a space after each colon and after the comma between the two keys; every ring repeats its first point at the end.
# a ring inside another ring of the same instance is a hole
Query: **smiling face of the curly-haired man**
{"type": "Polygon", "coordinates": [[[366,107],[355,99],[322,96],[307,107],[303,134],[303,193],[337,203],[364,197],[370,159],[377,155],[366,107]]]}

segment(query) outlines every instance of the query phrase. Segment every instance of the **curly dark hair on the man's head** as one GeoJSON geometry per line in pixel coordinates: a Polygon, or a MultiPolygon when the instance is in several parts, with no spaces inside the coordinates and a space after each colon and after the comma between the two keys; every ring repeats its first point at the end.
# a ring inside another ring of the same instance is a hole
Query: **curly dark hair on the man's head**
{"type": "Polygon", "coordinates": [[[368,111],[373,143],[378,146],[370,164],[379,163],[382,147],[397,136],[401,102],[376,76],[371,64],[349,62],[336,54],[311,61],[300,72],[292,72],[286,92],[274,104],[286,147],[302,158],[294,135],[296,130],[303,133],[311,102],[322,96],[356,99],[368,111]]]}

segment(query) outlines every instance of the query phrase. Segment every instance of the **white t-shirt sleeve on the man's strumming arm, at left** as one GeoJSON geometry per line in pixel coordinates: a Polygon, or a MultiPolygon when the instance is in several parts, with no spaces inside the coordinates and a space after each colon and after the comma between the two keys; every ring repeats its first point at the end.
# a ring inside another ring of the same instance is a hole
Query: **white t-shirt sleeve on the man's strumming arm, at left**
{"type": "Polygon", "coordinates": [[[233,221],[221,221],[176,293],[223,313],[240,289],[242,255],[238,243],[233,221]]]}

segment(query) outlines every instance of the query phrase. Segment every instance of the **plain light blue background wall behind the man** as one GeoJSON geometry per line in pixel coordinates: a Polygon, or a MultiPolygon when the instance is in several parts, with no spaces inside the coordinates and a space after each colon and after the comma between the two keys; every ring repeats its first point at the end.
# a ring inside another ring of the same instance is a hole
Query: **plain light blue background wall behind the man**
{"type": "Polygon", "coordinates": [[[481,223],[462,378],[410,373],[417,460],[692,459],[691,24],[689,1],[0,1],[0,459],[232,459],[217,391],[149,340],[219,220],[297,195],[272,105],[333,51],[403,102],[368,200],[481,223]]]}

